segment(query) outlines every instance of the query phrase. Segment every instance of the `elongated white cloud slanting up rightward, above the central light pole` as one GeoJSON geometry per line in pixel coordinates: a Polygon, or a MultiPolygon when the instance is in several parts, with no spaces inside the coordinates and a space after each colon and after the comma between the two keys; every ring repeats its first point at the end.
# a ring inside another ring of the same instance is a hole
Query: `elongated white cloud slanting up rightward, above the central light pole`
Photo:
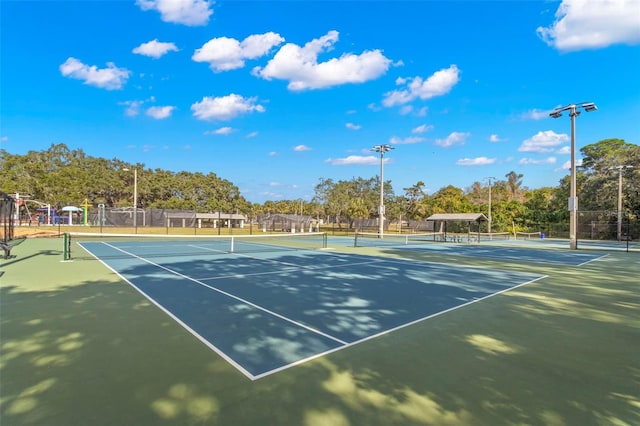
{"type": "Polygon", "coordinates": [[[398,78],[396,84],[406,87],[385,93],[382,104],[392,107],[409,103],[417,98],[425,100],[442,96],[449,93],[458,81],[460,81],[460,70],[455,65],[436,71],[425,80],[422,77],[398,78]]]}

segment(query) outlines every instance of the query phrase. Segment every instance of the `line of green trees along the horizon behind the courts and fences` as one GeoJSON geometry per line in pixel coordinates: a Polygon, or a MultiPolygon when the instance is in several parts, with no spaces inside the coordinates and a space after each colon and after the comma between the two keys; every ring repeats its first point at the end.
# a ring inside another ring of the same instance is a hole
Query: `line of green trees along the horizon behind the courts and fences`
{"type": "MultiPolygon", "coordinates": [[[[621,139],[605,139],[580,149],[577,190],[580,211],[615,215],[619,177],[622,174],[623,209],[640,212],[640,147],[621,139]],[[621,167],[629,166],[629,167],[621,167]]],[[[54,207],[90,205],[131,206],[134,170],[138,206],[195,210],[197,212],[305,214],[349,226],[356,219],[377,218],[380,202],[378,177],[333,180],[320,178],[311,201],[300,199],[251,203],[232,182],[210,172],[173,172],[150,169],[119,159],[92,157],[81,149],[53,144],[25,155],[0,150],[0,189],[8,194],[28,194],[54,207]]],[[[491,190],[492,230],[531,228],[534,224],[568,221],[570,176],[555,187],[529,189],[516,171],[504,178],[473,182],[467,188],[453,185],[427,194],[424,181],[396,193],[384,182],[385,216],[390,221],[424,220],[434,213],[489,213],[491,190]]]]}

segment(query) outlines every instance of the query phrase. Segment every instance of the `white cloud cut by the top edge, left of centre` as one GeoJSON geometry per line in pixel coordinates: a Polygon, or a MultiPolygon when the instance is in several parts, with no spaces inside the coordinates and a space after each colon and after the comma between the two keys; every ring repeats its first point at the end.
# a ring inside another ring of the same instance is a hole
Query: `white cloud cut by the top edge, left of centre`
{"type": "Polygon", "coordinates": [[[188,26],[207,25],[213,14],[209,0],[136,0],[140,9],[157,10],[164,22],[188,26]]]}

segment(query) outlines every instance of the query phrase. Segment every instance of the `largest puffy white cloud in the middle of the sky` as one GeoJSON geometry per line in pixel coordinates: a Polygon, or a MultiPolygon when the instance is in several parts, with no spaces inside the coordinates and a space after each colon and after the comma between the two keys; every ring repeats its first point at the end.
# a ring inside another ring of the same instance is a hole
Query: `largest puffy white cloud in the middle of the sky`
{"type": "Polygon", "coordinates": [[[345,53],[339,58],[318,62],[318,55],[331,50],[338,41],[338,31],[311,40],[303,47],[287,43],[265,67],[256,67],[253,74],[266,80],[288,80],[289,90],[322,89],[346,83],[364,83],[387,72],[391,60],[380,50],[368,50],[360,55],[345,53]]]}

